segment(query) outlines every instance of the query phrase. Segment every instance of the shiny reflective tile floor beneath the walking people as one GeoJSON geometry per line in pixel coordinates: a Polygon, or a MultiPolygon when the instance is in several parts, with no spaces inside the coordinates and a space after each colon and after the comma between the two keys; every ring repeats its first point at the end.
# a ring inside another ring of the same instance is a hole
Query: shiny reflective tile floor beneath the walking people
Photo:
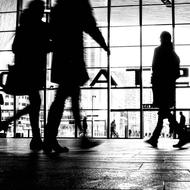
{"type": "Polygon", "coordinates": [[[0,139],[0,190],[189,190],[190,144],[174,149],[160,139],[158,149],[144,140],[106,139],[81,150],[79,140],[59,140],[69,153],[29,150],[30,139],[0,139]]]}

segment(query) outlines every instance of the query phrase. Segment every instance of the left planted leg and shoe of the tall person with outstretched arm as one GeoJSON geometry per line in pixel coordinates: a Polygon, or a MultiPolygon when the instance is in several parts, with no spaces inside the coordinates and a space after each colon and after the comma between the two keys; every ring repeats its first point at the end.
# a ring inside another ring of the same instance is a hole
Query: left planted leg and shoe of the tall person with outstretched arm
{"type": "Polygon", "coordinates": [[[47,124],[44,127],[44,151],[49,153],[52,150],[56,152],[67,152],[66,147],[61,147],[57,142],[58,128],[63,115],[67,91],[59,85],[55,99],[50,106],[47,124]]]}

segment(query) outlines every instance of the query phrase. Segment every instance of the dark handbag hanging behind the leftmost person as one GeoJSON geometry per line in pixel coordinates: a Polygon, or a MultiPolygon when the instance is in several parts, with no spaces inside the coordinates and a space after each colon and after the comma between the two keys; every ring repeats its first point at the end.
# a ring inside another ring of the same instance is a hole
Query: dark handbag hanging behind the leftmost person
{"type": "Polygon", "coordinates": [[[8,71],[0,73],[0,86],[10,95],[28,95],[30,89],[22,77],[22,70],[8,65],[8,71]]]}

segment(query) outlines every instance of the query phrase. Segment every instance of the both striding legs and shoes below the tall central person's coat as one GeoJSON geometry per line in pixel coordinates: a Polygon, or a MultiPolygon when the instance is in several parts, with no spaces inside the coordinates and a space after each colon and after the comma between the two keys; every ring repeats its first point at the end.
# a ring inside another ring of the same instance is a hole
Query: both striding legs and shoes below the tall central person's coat
{"type": "MultiPolygon", "coordinates": [[[[48,122],[45,127],[44,133],[44,152],[50,153],[52,150],[55,152],[68,152],[67,147],[61,147],[57,141],[58,128],[61,122],[61,118],[64,111],[66,98],[71,97],[72,101],[72,112],[75,120],[76,128],[83,133],[83,128],[81,125],[80,108],[79,108],[79,98],[80,98],[80,88],[79,87],[65,87],[59,85],[55,99],[50,107],[48,114],[48,122]]],[[[82,135],[80,147],[81,148],[92,148],[99,145],[98,142],[90,141],[85,135],[82,135]]]]}

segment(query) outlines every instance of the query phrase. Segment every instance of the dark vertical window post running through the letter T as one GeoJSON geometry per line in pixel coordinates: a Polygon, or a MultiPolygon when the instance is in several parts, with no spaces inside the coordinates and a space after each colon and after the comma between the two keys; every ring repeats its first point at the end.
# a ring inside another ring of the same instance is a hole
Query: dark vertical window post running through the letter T
{"type": "Polygon", "coordinates": [[[139,1],[139,25],[140,25],[140,138],[143,138],[143,82],[142,82],[142,0],[139,1]]]}

